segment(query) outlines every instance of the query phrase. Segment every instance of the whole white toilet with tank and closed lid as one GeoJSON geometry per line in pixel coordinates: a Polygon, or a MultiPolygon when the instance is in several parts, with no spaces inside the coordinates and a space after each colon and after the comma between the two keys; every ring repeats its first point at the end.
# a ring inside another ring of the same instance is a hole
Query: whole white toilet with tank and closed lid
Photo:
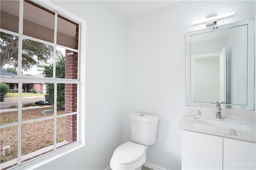
{"type": "Polygon", "coordinates": [[[141,170],[148,146],[156,141],[158,116],[133,112],[129,119],[132,142],[116,148],[110,160],[112,170],[141,170]]]}

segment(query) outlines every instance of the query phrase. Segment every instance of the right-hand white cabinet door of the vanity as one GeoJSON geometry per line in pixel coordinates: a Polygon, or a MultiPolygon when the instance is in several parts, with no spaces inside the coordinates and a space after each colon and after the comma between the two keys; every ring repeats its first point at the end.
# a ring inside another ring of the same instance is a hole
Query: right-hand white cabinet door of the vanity
{"type": "Polygon", "coordinates": [[[223,169],[224,170],[255,170],[256,144],[223,139],[223,169]]]}

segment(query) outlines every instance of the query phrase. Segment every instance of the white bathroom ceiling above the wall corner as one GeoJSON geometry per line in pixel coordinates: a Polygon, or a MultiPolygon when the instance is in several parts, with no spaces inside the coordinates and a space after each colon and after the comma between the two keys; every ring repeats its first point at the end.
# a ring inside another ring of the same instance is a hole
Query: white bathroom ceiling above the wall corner
{"type": "Polygon", "coordinates": [[[124,18],[132,18],[177,1],[178,0],[106,0],[105,2],[124,18]]]}

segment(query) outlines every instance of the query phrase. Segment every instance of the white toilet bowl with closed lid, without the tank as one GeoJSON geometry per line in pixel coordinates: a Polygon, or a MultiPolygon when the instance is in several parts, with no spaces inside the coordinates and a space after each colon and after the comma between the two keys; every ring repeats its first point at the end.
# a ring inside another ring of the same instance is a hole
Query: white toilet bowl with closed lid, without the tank
{"type": "Polygon", "coordinates": [[[148,146],[126,142],[116,148],[110,160],[112,170],[141,170],[148,146]]]}

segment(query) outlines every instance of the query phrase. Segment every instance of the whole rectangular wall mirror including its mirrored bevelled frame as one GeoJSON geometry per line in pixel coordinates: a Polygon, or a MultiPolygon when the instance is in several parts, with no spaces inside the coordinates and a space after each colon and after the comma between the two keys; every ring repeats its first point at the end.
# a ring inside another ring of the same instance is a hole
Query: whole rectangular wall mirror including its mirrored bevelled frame
{"type": "Polygon", "coordinates": [[[186,33],[186,105],[254,110],[254,19],[186,33]]]}

